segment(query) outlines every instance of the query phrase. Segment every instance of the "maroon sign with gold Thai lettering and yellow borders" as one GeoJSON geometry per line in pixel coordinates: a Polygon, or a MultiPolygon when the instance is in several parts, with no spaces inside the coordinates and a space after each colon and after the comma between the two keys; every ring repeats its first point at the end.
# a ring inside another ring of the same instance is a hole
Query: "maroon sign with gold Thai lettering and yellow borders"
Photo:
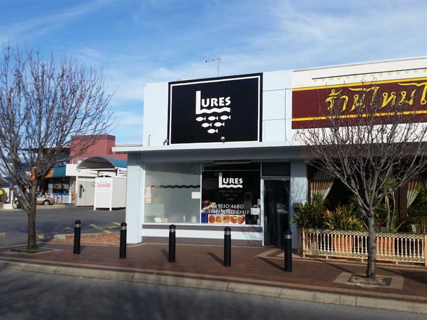
{"type": "MultiPolygon", "coordinates": [[[[325,115],[329,114],[328,110],[338,105],[342,109],[342,117],[349,117],[356,114],[356,108],[363,107],[361,100],[369,101],[370,97],[376,94],[380,94],[379,108],[384,110],[384,115],[388,115],[390,106],[395,103],[411,106],[411,111],[408,112],[415,110],[416,114],[427,114],[426,77],[324,84],[293,88],[292,91],[293,129],[328,125],[325,115]]],[[[376,100],[378,101],[378,97],[376,100]]]]}

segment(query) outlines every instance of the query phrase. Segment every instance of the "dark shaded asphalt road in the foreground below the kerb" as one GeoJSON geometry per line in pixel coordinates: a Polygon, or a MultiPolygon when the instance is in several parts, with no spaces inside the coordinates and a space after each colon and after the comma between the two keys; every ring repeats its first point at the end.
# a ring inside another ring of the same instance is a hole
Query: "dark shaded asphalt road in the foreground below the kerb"
{"type": "Polygon", "coordinates": [[[403,320],[426,315],[0,269],[0,319],[403,320]]]}

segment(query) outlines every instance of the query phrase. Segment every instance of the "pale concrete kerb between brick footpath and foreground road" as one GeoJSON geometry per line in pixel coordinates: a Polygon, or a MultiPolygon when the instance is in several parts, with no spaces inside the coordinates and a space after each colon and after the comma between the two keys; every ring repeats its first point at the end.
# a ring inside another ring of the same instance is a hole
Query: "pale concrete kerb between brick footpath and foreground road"
{"type": "Polygon", "coordinates": [[[427,304],[392,299],[359,297],[339,293],[306,291],[281,287],[262,286],[248,283],[237,283],[215,280],[201,280],[184,277],[171,277],[156,274],[132,273],[99,269],[72,268],[51,265],[39,265],[22,262],[0,261],[0,268],[20,271],[31,271],[63,276],[87,277],[106,280],[125,280],[150,284],[174,285],[199,289],[238,292],[270,296],[283,299],[294,299],[321,302],[362,308],[384,309],[427,314],[427,304]]]}

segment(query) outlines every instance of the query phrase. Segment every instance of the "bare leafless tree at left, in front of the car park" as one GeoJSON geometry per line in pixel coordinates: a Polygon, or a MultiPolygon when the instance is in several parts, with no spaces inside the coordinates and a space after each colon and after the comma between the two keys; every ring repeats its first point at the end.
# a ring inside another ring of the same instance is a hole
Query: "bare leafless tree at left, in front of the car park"
{"type": "Polygon", "coordinates": [[[0,173],[28,215],[28,249],[36,244],[36,192],[58,162],[66,162],[72,136],[75,157],[111,127],[102,70],[61,55],[45,61],[38,51],[3,47],[0,59],[0,173]]]}

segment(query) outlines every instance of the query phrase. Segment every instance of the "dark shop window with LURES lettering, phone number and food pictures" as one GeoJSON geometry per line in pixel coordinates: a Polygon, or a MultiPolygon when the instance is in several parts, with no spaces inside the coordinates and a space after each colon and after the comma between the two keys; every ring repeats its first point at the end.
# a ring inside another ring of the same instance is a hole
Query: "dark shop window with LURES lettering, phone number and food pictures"
{"type": "Polygon", "coordinates": [[[201,209],[202,223],[259,225],[259,163],[205,167],[201,209]]]}

